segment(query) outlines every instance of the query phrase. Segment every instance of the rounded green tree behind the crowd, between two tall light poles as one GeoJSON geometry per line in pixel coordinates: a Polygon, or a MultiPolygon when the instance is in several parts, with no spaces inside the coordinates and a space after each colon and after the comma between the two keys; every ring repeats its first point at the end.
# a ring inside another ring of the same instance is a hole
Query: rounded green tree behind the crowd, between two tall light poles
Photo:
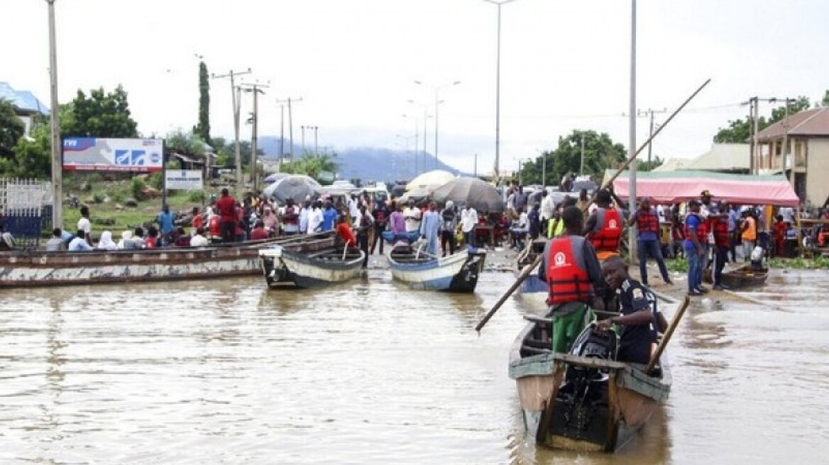
{"type": "Polygon", "coordinates": [[[622,144],[613,142],[606,132],[574,130],[567,137],[559,137],[558,147],[545,151],[534,161],[521,167],[521,181],[524,184],[541,184],[541,173],[546,160],[545,185],[559,185],[561,178],[570,173],[579,173],[581,168],[581,141],[584,137],[584,174],[594,180],[601,180],[604,170],[614,168],[623,162],[627,151],[622,144]]]}

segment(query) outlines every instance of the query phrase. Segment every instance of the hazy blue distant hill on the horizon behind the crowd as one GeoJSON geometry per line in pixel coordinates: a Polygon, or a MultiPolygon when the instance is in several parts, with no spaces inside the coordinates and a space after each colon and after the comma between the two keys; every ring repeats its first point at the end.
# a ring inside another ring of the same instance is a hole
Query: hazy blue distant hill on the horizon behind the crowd
{"type": "MultiPolygon", "coordinates": [[[[259,138],[259,148],[265,156],[276,158],[279,154],[279,137],[264,136],[259,138]]],[[[285,141],[285,152],[288,152],[288,141],[285,141]]],[[[294,156],[299,156],[302,147],[293,144],[294,156]]],[[[454,175],[461,174],[452,166],[438,161],[435,165],[434,156],[426,154],[426,169],[423,169],[423,152],[395,151],[376,147],[359,147],[337,150],[338,178],[344,180],[360,179],[366,181],[393,182],[395,180],[411,180],[414,176],[429,170],[447,170],[454,175]]]]}

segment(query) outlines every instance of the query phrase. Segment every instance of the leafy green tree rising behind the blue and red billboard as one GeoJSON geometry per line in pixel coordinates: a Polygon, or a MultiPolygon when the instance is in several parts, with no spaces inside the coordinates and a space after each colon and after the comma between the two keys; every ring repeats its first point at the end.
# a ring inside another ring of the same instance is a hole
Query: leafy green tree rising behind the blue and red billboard
{"type": "Polygon", "coordinates": [[[112,93],[93,89],[89,97],[79,89],[61,111],[61,132],[67,137],[138,137],[138,123],[130,114],[127,92],[120,85],[112,93]]]}

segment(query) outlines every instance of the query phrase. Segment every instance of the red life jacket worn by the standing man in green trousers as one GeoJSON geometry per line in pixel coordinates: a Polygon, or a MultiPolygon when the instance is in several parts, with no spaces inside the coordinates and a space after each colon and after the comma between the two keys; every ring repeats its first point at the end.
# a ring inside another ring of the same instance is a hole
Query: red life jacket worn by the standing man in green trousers
{"type": "Polygon", "coordinates": [[[584,261],[584,237],[557,237],[550,243],[547,257],[547,284],[550,295],[547,304],[589,302],[594,296],[593,281],[587,274],[584,261]]]}

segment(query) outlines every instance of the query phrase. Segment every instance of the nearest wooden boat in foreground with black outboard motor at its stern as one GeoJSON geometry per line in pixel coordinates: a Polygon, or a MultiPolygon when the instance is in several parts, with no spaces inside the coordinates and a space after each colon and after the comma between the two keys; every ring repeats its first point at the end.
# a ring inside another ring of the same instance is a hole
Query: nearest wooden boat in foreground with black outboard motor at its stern
{"type": "Polygon", "coordinates": [[[551,352],[550,319],[531,320],[510,352],[511,378],[528,434],[551,448],[613,452],[647,423],[671,391],[667,356],[658,376],[602,357],[601,338],[585,331],[575,353],[551,352]],[[585,337],[584,334],[587,334],[585,337]]]}

